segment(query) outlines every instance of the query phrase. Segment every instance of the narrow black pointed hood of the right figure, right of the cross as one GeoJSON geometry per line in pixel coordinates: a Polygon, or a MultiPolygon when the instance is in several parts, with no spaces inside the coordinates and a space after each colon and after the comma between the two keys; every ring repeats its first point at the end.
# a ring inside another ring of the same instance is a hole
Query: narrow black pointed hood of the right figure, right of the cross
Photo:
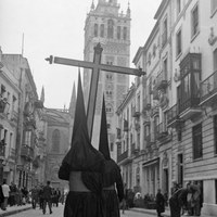
{"type": "Polygon", "coordinates": [[[106,122],[104,95],[103,95],[103,102],[102,102],[99,151],[104,155],[105,159],[111,159],[110,148],[108,148],[108,139],[107,139],[107,122],[106,122]]]}

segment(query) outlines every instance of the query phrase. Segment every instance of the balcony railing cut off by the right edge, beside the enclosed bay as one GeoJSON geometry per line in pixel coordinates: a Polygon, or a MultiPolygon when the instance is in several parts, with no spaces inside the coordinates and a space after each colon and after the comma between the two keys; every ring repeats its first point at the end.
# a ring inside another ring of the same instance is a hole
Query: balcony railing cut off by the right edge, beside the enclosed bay
{"type": "Polygon", "coordinates": [[[201,104],[217,97],[217,71],[201,82],[201,104]]]}

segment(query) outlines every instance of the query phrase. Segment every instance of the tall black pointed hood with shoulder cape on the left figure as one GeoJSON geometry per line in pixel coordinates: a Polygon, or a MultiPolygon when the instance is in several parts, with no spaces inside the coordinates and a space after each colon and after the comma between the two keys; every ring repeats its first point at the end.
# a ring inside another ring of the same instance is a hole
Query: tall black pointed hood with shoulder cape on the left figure
{"type": "Polygon", "coordinates": [[[104,161],[102,154],[90,143],[79,74],[71,150],[63,159],[63,163],[68,164],[72,170],[98,171],[101,170],[102,161],[104,161]]]}

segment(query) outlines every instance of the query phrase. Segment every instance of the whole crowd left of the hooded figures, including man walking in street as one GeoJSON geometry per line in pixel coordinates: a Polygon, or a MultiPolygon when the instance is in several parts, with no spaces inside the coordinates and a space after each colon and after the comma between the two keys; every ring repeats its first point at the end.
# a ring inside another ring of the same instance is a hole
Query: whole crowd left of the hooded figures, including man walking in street
{"type": "Polygon", "coordinates": [[[13,182],[9,186],[3,181],[0,186],[0,208],[2,210],[7,210],[8,206],[31,204],[33,208],[39,207],[46,214],[48,204],[51,214],[52,206],[59,206],[59,203],[64,204],[64,191],[50,187],[50,181],[47,186],[39,184],[29,190],[26,187],[18,188],[13,182]]]}

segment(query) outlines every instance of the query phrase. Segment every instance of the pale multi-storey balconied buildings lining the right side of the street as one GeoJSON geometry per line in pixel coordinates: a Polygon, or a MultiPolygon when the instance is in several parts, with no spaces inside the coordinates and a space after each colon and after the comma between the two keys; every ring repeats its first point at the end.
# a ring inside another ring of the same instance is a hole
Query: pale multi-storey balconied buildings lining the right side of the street
{"type": "MultiPolygon", "coordinates": [[[[216,0],[163,0],[158,7],[156,24],[133,59],[146,75],[140,78],[140,151],[131,162],[132,168],[139,166],[132,174],[138,171],[142,177],[142,194],[155,194],[161,188],[170,196],[174,183],[184,187],[189,181],[197,181],[202,213],[214,216],[216,11],[216,0]]],[[[136,101],[140,91],[137,87],[136,101]]],[[[119,164],[124,166],[123,161],[119,164]]]]}

